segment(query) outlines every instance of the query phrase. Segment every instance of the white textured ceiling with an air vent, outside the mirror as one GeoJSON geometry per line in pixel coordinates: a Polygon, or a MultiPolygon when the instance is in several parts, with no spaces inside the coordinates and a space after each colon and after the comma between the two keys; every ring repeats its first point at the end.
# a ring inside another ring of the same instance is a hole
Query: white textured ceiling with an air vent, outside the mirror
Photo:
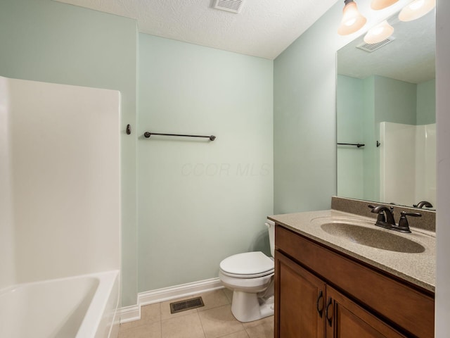
{"type": "Polygon", "coordinates": [[[135,18],[150,35],[273,60],[340,0],[244,0],[238,14],[214,0],[56,1],[135,18]]]}

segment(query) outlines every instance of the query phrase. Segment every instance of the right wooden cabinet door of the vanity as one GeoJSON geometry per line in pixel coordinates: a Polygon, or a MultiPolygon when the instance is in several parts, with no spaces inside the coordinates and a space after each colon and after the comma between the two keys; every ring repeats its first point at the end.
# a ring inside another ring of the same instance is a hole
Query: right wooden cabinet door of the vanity
{"type": "Polygon", "coordinates": [[[405,337],[329,285],[326,287],[326,337],[405,337]]]}

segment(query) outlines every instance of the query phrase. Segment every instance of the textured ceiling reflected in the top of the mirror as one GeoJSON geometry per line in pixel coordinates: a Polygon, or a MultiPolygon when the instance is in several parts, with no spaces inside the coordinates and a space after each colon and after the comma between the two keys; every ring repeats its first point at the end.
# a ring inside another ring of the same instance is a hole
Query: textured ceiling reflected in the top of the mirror
{"type": "Polygon", "coordinates": [[[382,75],[393,79],[421,83],[435,78],[435,11],[407,23],[394,15],[394,41],[368,53],[356,49],[363,36],[338,51],[338,73],[364,79],[382,75]]]}

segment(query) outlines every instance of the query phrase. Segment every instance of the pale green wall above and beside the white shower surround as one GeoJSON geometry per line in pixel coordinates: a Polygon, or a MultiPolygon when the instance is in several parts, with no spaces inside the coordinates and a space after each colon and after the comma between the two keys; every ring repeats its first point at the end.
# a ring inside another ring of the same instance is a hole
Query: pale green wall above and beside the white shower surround
{"type": "Polygon", "coordinates": [[[0,46],[2,76],[121,92],[122,305],[136,303],[136,137],[124,133],[136,126],[135,20],[50,0],[1,0],[0,46]]]}

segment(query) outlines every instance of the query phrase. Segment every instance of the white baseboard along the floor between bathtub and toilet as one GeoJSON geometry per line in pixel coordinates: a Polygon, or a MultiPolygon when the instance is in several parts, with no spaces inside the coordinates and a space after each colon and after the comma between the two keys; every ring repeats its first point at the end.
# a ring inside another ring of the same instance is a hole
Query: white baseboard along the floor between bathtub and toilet
{"type": "Polygon", "coordinates": [[[141,292],[138,294],[137,305],[126,306],[119,309],[118,313],[120,314],[120,323],[127,323],[141,319],[141,306],[193,296],[194,294],[201,294],[203,292],[210,292],[223,288],[224,286],[220,282],[219,278],[211,278],[210,280],[200,280],[199,282],[141,292]]]}

